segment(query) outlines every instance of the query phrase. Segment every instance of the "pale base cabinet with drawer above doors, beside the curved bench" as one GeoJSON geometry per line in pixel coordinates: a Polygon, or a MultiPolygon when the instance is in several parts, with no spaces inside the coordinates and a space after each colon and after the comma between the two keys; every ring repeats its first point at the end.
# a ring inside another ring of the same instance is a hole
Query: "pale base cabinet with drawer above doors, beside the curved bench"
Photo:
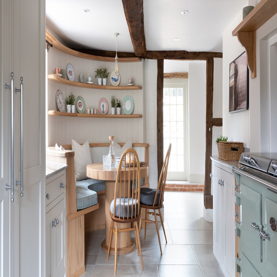
{"type": "Polygon", "coordinates": [[[66,171],[46,179],[46,277],[66,274],[66,171]]]}

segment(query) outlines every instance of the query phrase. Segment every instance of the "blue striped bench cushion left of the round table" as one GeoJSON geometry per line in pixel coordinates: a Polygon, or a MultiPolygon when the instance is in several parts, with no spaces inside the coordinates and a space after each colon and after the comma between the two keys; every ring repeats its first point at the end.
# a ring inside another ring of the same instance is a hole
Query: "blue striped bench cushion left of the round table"
{"type": "Polygon", "coordinates": [[[105,189],[105,181],[85,179],[76,182],[77,210],[85,209],[98,203],[96,191],[105,189]]]}

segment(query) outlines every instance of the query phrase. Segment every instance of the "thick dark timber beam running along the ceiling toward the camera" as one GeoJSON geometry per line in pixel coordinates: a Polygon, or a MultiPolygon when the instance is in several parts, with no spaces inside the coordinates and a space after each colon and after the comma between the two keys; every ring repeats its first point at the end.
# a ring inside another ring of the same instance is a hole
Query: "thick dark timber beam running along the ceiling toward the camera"
{"type": "Polygon", "coordinates": [[[146,43],[143,22],[143,0],[122,0],[122,4],[134,52],[138,57],[145,57],[146,43]]]}

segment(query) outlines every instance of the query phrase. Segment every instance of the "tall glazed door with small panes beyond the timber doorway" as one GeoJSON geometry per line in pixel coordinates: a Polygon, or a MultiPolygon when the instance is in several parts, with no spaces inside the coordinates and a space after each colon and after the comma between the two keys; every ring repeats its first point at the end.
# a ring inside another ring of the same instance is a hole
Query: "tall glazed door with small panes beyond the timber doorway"
{"type": "Polygon", "coordinates": [[[164,157],[172,144],[167,180],[187,181],[188,174],[188,79],[163,81],[164,157]]]}

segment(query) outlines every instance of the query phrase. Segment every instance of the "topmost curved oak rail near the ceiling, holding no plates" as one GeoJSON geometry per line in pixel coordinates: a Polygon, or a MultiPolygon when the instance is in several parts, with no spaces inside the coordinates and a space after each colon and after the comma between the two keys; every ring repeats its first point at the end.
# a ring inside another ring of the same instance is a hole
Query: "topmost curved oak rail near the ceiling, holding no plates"
{"type": "MultiPolygon", "coordinates": [[[[104,62],[114,62],[114,58],[111,57],[101,57],[94,56],[90,54],[81,53],[75,50],[72,50],[66,46],[64,46],[61,42],[59,42],[48,30],[46,30],[46,40],[52,43],[53,47],[60,50],[63,53],[69,54],[71,56],[75,56],[78,58],[94,60],[94,61],[104,61],[104,62]]],[[[133,58],[118,58],[118,62],[141,62],[141,58],[133,57],[133,58]]]]}

